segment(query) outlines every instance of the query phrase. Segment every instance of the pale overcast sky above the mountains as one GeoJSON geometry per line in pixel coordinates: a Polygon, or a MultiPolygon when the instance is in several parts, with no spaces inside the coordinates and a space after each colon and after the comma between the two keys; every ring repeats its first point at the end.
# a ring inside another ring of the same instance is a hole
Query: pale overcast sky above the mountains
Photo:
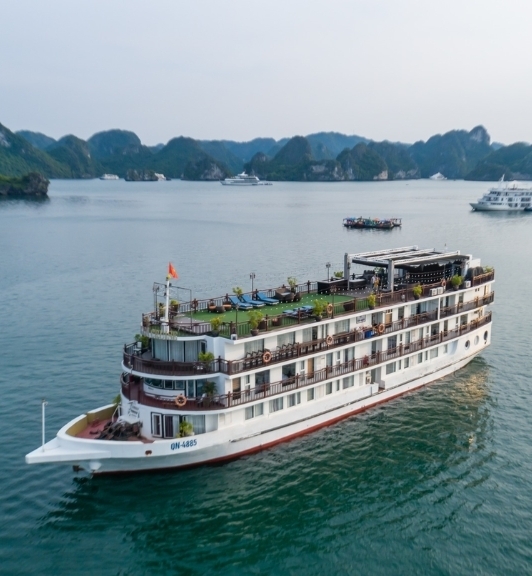
{"type": "Polygon", "coordinates": [[[529,0],[0,1],[12,130],[532,141],[529,0]]]}

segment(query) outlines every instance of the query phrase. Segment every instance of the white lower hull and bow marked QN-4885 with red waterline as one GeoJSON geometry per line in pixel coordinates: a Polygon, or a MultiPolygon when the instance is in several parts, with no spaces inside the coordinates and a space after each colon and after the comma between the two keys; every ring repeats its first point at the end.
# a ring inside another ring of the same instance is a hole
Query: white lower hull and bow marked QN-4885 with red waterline
{"type": "Polygon", "coordinates": [[[39,448],[26,459],[28,463],[64,462],[94,474],[185,468],[234,459],[308,434],[453,373],[489,344],[484,341],[466,349],[465,338],[463,343],[459,339],[457,345],[464,352],[456,351],[426,362],[390,388],[377,383],[339,388],[312,403],[195,436],[149,441],[142,437],[125,441],[96,440],[90,430],[100,430],[102,423],[110,419],[109,407],[104,407],[89,413],[93,415],[91,423],[87,422],[86,415],[70,422],[44,450],[39,448]],[[95,424],[95,420],[100,422],[95,424]]]}

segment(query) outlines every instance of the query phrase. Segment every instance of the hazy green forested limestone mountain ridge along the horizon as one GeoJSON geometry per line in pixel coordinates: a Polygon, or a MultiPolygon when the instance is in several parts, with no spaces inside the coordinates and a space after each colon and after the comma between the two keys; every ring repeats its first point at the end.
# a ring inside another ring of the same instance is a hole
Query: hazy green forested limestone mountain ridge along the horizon
{"type": "Polygon", "coordinates": [[[103,173],[155,171],[171,178],[222,179],[243,169],[269,180],[343,181],[427,178],[474,180],[532,179],[532,147],[491,144],[483,126],[451,130],[412,145],[375,142],[357,135],[317,132],[249,142],[172,138],[146,146],[131,131],[112,129],[84,141],[74,135],[55,140],[0,124],[0,173],[38,171],[48,178],[94,178],[103,173]],[[511,175],[511,176],[510,176],[511,175]],[[497,176],[497,178],[495,178],[497,176]]]}

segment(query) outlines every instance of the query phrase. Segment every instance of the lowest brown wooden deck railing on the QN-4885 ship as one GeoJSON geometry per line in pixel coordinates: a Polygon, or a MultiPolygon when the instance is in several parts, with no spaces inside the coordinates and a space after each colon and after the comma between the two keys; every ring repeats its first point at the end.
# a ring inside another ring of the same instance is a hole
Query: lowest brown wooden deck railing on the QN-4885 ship
{"type": "MultiPolygon", "coordinates": [[[[202,398],[188,398],[185,406],[181,407],[180,410],[185,411],[206,411],[206,410],[223,410],[225,408],[230,408],[232,406],[239,406],[242,404],[248,404],[249,402],[255,402],[263,398],[270,398],[272,396],[277,396],[283,392],[297,390],[300,388],[305,388],[312,384],[317,384],[319,382],[324,382],[325,380],[330,380],[331,378],[337,378],[340,376],[345,376],[358,372],[360,370],[368,370],[379,364],[384,364],[391,360],[401,358],[419,352],[426,348],[430,348],[437,344],[443,342],[448,342],[459,336],[467,334],[477,328],[487,325],[491,322],[491,312],[479,318],[478,320],[473,320],[468,324],[458,326],[452,330],[446,332],[439,332],[424,338],[420,338],[410,344],[400,344],[395,348],[389,350],[378,351],[375,354],[366,355],[362,358],[357,358],[344,362],[343,364],[338,364],[335,366],[327,366],[321,370],[316,370],[312,374],[306,375],[296,375],[292,378],[286,380],[281,380],[280,382],[274,382],[272,384],[264,384],[254,389],[223,394],[219,396],[212,397],[202,397],[202,398]]],[[[126,398],[129,400],[137,400],[141,404],[147,406],[153,406],[158,408],[175,408],[174,398],[168,398],[164,396],[152,396],[146,394],[142,390],[142,381],[129,381],[130,375],[123,375],[121,377],[122,392],[126,398]]]]}

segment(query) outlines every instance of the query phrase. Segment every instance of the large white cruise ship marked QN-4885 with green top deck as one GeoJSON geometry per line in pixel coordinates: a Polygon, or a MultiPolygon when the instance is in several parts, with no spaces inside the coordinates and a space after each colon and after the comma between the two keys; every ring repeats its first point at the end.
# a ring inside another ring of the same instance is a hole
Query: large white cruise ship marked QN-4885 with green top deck
{"type": "Polygon", "coordinates": [[[47,443],[43,432],[26,461],[104,474],[228,460],[451,374],[490,344],[494,271],[469,254],[346,253],[343,272],[180,302],[188,289],[156,283],[116,404],[47,443]]]}

